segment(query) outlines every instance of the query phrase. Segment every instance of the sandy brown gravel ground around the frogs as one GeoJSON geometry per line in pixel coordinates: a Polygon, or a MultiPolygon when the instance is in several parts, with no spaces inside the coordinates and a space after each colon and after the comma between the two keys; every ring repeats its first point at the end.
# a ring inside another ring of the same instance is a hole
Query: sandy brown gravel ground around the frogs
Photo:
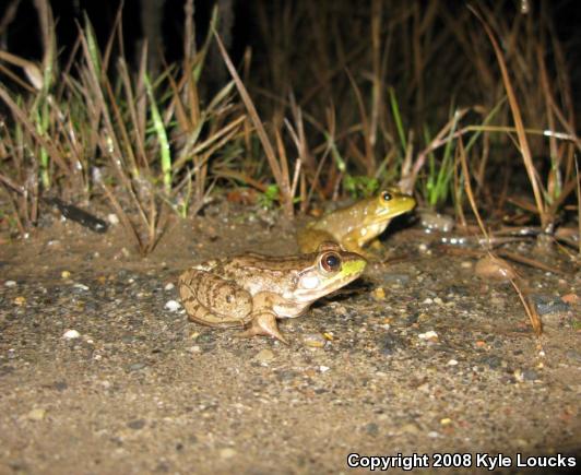
{"type": "Polygon", "coordinates": [[[147,259],[119,228],[4,239],[0,473],[336,474],[369,455],[414,473],[581,464],[579,272],[518,268],[544,313],[537,339],[510,284],[408,229],[383,242],[392,263],[282,322],[289,346],[187,321],[183,269],[292,253],[293,236],[256,218],[176,222],[147,259]]]}

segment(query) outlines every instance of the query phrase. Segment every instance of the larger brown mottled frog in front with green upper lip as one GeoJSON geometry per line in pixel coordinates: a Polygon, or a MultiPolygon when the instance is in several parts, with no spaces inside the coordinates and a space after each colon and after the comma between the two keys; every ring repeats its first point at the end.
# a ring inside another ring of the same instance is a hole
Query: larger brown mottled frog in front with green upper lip
{"type": "Polygon", "coordinates": [[[305,314],[317,299],[359,277],[366,264],[364,257],[323,241],[304,254],[213,259],[185,271],[178,288],[190,321],[239,326],[240,337],[264,335],[288,344],[277,320],[305,314]]]}

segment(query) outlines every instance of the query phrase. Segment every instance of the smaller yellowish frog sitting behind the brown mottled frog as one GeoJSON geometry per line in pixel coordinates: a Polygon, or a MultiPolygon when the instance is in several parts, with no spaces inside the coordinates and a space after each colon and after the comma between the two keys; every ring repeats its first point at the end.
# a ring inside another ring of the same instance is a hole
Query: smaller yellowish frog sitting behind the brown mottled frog
{"type": "Polygon", "coordinates": [[[415,205],[412,195],[388,188],[309,223],[298,230],[297,242],[301,252],[312,252],[320,242],[333,241],[347,251],[372,259],[374,254],[364,246],[383,233],[392,218],[412,211],[415,205]]]}

